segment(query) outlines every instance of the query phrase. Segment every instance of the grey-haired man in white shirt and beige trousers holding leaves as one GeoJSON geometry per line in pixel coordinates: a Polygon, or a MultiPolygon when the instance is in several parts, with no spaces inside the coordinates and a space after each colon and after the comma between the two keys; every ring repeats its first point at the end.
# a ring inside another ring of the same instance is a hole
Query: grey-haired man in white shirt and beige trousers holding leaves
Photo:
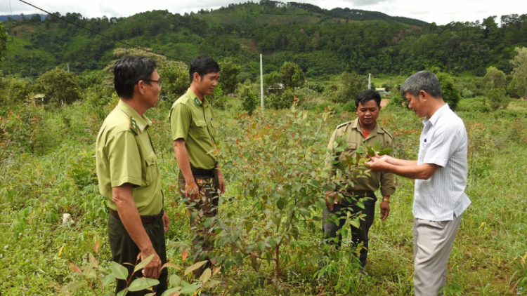
{"type": "Polygon", "coordinates": [[[422,71],[406,79],[401,95],[424,117],[417,161],[376,156],[367,164],[377,172],[415,179],[414,290],[416,296],[443,295],[448,257],[463,212],[467,187],[467,130],[441,97],[435,74],[422,71]]]}

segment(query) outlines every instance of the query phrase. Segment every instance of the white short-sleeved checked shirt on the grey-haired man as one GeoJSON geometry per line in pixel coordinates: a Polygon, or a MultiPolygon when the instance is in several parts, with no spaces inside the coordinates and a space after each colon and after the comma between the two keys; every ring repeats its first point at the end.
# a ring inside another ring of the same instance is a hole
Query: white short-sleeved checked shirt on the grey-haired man
{"type": "Polygon", "coordinates": [[[448,104],[423,120],[417,164],[434,163],[440,168],[429,180],[415,180],[414,217],[453,220],[470,205],[467,187],[467,130],[448,104]]]}

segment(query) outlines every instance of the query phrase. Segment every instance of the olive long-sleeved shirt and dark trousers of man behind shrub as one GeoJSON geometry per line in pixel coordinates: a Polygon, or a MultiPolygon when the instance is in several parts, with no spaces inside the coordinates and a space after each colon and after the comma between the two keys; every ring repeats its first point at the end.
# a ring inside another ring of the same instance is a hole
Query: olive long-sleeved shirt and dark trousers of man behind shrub
{"type": "MultiPolygon", "coordinates": [[[[380,149],[393,148],[393,141],[391,135],[382,128],[379,123],[375,125],[375,128],[370,132],[367,138],[364,137],[362,130],[360,129],[358,119],[342,123],[337,126],[331,136],[328,149],[334,149],[334,145],[337,140],[341,140],[341,144],[345,144],[344,151],[336,154],[328,154],[326,158],[325,168],[330,177],[334,176],[337,168],[340,168],[341,172],[345,172],[344,166],[346,161],[356,159],[356,149],[363,147],[363,144],[367,144],[368,147],[373,147],[375,143],[379,144],[380,149]],[[338,161],[337,164],[334,161],[338,161]]],[[[333,150],[334,151],[334,150],[333,150]]],[[[323,230],[325,238],[337,237],[337,231],[344,226],[346,212],[351,211],[353,214],[363,213],[363,219],[360,220],[360,227],[351,227],[351,240],[353,243],[363,243],[364,247],[360,250],[360,265],[362,267],[366,264],[368,238],[367,234],[373,223],[375,217],[375,202],[377,197],[375,191],[381,187],[382,196],[391,196],[395,192],[395,185],[393,182],[392,173],[377,173],[370,171],[370,177],[357,177],[359,172],[352,170],[351,175],[345,176],[347,180],[354,180],[355,184],[353,187],[349,187],[347,195],[349,196],[367,196],[368,199],[363,201],[364,208],[356,206],[353,199],[344,199],[339,204],[334,205],[332,211],[325,209],[323,211],[324,224],[323,230]],[[329,217],[334,214],[339,220],[330,220],[329,217]],[[338,224],[337,224],[338,222],[338,224]]],[[[341,245],[342,237],[339,235],[338,245],[341,245]]],[[[330,243],[333,240],[329,240],[330,243]]]]}

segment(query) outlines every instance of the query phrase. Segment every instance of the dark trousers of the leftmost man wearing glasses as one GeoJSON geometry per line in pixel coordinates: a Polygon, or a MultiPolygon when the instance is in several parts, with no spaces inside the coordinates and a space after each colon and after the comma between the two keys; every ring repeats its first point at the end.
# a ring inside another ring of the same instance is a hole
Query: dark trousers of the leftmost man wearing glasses
{"type": "MultiPolygon", "coordinates": [[[[146,234],[152,241],[155,252],[160,256],[162,264],[167,263],[167,247],[164,241],[164,226],[162,218],[157,218],[154,222],[149,224],[143,224],[145,227],[146,234]]],[[[141,253],[141,250],[137,247],[136,243],[131,239],[130,235],[124,228],[121,220],[116,219],[112,215],[108,215],[108,237],[110,238],[110,250],[112,250],[112,260],[123,265],[128,269],[128,275],[134,272],[134,265],[136,265],[137,255],[141,253]],[[130,263],[124,264],[124,263],[130,263]]],[[[141,258],[139,259],[141,262],[141,258]]],[[[130,283],[136,278],[143,277],[141,270],[138,270],[134,276],[131,278],[130,283]]],[[[168,271],[167,269],[162,269],[160,278],[157,280],[160,281],[159,285],[155,285],[154,291],[156,295],[162,295],[162,293],[167,290],[167,278],[168,271]]],[[[126,288],[126,281],[117,280],[117,288],[115,289],[115,295],[121,290],[126,288]]],[[[137,292],[127,292],[127,296],[143,296],[148,293],[151,293],[149,290],[141,290],[137,292]]]]}

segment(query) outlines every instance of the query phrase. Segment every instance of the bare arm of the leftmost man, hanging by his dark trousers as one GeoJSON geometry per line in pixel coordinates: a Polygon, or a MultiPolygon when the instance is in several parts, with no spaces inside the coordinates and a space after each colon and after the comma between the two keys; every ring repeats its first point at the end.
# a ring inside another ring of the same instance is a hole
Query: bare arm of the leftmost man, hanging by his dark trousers
{"type": "MultiPolygon", "coordinates": [[[[132,184],[125,183],[119,187],[112,187],[112,201],[117,206],[117,212],[126,232],[141,250],[141,260],[154,254],[152,260],[143,268],[143,276],[147,278],[159,278],[161,274],[161,259],[154,250],[152,241],[146,234],[145,227],[141,223],[141,217],[132,198],[132,184]]],[[[129,262],[134,263],[134,262],[129,262]]]]}

